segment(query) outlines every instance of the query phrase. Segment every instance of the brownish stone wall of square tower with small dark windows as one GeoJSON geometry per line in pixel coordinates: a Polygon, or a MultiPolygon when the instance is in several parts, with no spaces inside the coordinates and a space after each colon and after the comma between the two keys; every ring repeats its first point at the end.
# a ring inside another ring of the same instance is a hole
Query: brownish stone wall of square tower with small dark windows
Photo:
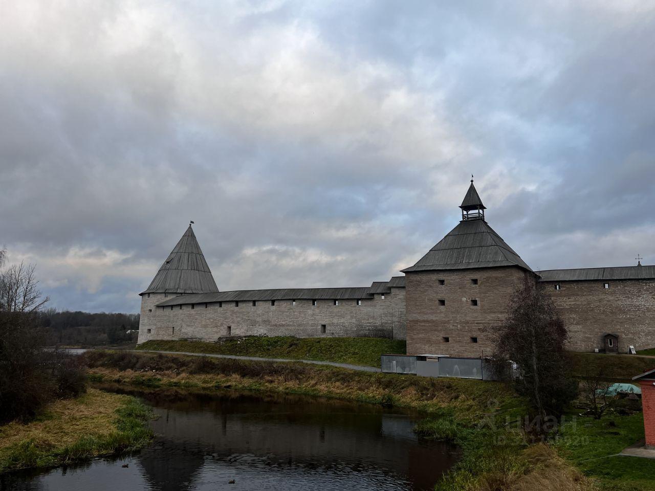
{"type": "Polygon", "coordinates": [[[534,281],[532,274],[513,266],[405,274],[407,354],[491,355],[484,330],[506,317],[510,297],[525,278],[534,281]]]}

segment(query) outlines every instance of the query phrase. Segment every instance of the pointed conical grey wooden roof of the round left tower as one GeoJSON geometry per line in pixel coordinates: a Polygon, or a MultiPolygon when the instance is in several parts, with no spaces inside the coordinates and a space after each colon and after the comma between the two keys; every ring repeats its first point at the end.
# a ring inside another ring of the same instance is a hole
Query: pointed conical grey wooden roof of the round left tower
{"type": "Polygon", "coordinates": [[[193,228],[179,240],[159,268],[149,287],[141,293],[212,293],[218,291],[214,276],[202,255],[193,228]]]}

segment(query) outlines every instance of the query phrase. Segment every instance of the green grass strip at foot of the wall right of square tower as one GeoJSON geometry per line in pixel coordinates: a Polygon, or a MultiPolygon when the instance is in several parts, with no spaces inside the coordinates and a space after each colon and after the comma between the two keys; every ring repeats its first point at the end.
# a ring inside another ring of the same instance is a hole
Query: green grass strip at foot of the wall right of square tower
{"type": "Polygon", "coordinates": [[[655,359],[639,355],[569,352],[569,357],[573,362],[574,375],[582,377],[598,373],[602,366],[605,369],[605,376],[629,380],[635,375],[655,368],[655,359]]]}

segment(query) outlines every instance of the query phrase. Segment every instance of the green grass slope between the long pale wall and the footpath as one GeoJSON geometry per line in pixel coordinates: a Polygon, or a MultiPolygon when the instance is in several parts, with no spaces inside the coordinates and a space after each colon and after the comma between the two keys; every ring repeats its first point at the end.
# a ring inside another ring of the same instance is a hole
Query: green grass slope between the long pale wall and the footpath
{"type": "Polygon", "coordinates": [[[385,338],[295,338],[249,336],[221,342],[151,340],[138,350],[179,351],[262,358],[311,359],[380,367],[380,355],[405,354],[405,341],[385,338]]]}

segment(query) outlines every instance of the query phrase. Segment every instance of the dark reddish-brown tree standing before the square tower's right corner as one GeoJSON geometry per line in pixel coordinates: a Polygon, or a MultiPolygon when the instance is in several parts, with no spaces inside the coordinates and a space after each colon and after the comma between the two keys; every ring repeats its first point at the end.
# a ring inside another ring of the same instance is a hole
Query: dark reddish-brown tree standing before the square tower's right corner
{"type": "Polygon", "coordinates": [[[521,377],[517,390],[527,396],[535,416],[559,417],[576,393],[565,356],[567,329],[552,300],[533,282],[517,289],[500,328],[491,330],[498,366],[514,361],[521,377]]]}

